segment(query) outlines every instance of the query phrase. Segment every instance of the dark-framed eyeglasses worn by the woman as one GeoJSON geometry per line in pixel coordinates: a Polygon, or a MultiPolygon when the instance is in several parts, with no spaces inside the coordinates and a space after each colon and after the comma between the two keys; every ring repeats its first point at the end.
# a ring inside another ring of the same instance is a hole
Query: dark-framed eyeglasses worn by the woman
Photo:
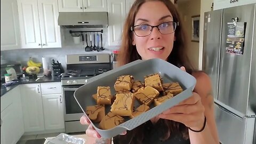
{"type": "MultiPolygon", "coordinates": [[[[179,25],[179,22],[178,22],[178,25],[179,25]]],[[[134,31],[135,35],[139,37],[145,37],[151,34],[154,27],[156,27],[161,34],[167,35],[175,31],[177,27],[177,23],[174,21],[169,21],[169,22],[163,22],[157,26],[137,25],[137,26],[131,27],[131,31],[134,31]]]]}

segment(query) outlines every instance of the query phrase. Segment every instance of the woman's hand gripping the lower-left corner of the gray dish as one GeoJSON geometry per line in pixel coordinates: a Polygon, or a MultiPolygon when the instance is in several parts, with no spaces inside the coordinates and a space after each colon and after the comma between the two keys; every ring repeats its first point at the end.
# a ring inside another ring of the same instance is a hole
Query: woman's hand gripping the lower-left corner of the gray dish
{"type": "MultiPolygon", "coordinates": [[[[94,127],[92,126],[92,124],[90,123],[89,119],[83,115],[80,118],[80,123],[83,125],[89,125],[87,130],[85,131],[86,135],[88,135],[89,137],[93,137],[93,138],[101,138],[101,135],[94,129],[94,127]]],[[[123,133],[121,133],[121,135],[125,135],[126,131],[124,131],[123,133]]]]}

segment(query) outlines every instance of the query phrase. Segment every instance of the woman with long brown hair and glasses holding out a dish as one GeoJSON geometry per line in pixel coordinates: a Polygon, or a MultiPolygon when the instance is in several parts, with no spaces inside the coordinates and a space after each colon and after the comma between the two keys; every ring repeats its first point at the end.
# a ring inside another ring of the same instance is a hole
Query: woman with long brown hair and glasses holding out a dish
{"type": "MultiPolygon", "coordinates": [[[[193,75],[193,95],[131,131],[114,143],[219,143],[209,76],[195,71],[186,55],[186,38],[179,14],[170,0],[137,0],[127,16],[119,65],[159,58],[193,75]]],[[[85,116],[82,124],[89,124],[85,116]]],[[[86,134],[100,138],[90,125],[86,134]]]]}

